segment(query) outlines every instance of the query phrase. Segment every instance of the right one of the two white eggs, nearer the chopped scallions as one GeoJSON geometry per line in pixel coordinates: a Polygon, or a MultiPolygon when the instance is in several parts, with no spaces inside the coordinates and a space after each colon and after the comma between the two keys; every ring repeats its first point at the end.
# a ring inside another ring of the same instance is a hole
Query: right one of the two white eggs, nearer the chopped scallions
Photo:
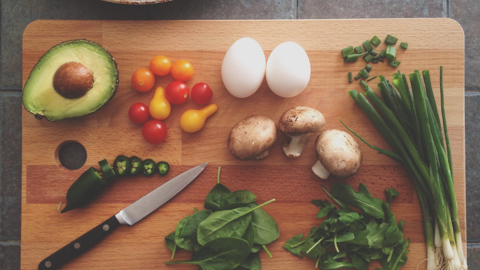
{"type": "Polygon", "coordinates": [[[310,80],[310,60],[307,53],[292,41],[276,46],[268,57],[265,76],[268,87],[278,96],[297,96],[310,80]]]}

